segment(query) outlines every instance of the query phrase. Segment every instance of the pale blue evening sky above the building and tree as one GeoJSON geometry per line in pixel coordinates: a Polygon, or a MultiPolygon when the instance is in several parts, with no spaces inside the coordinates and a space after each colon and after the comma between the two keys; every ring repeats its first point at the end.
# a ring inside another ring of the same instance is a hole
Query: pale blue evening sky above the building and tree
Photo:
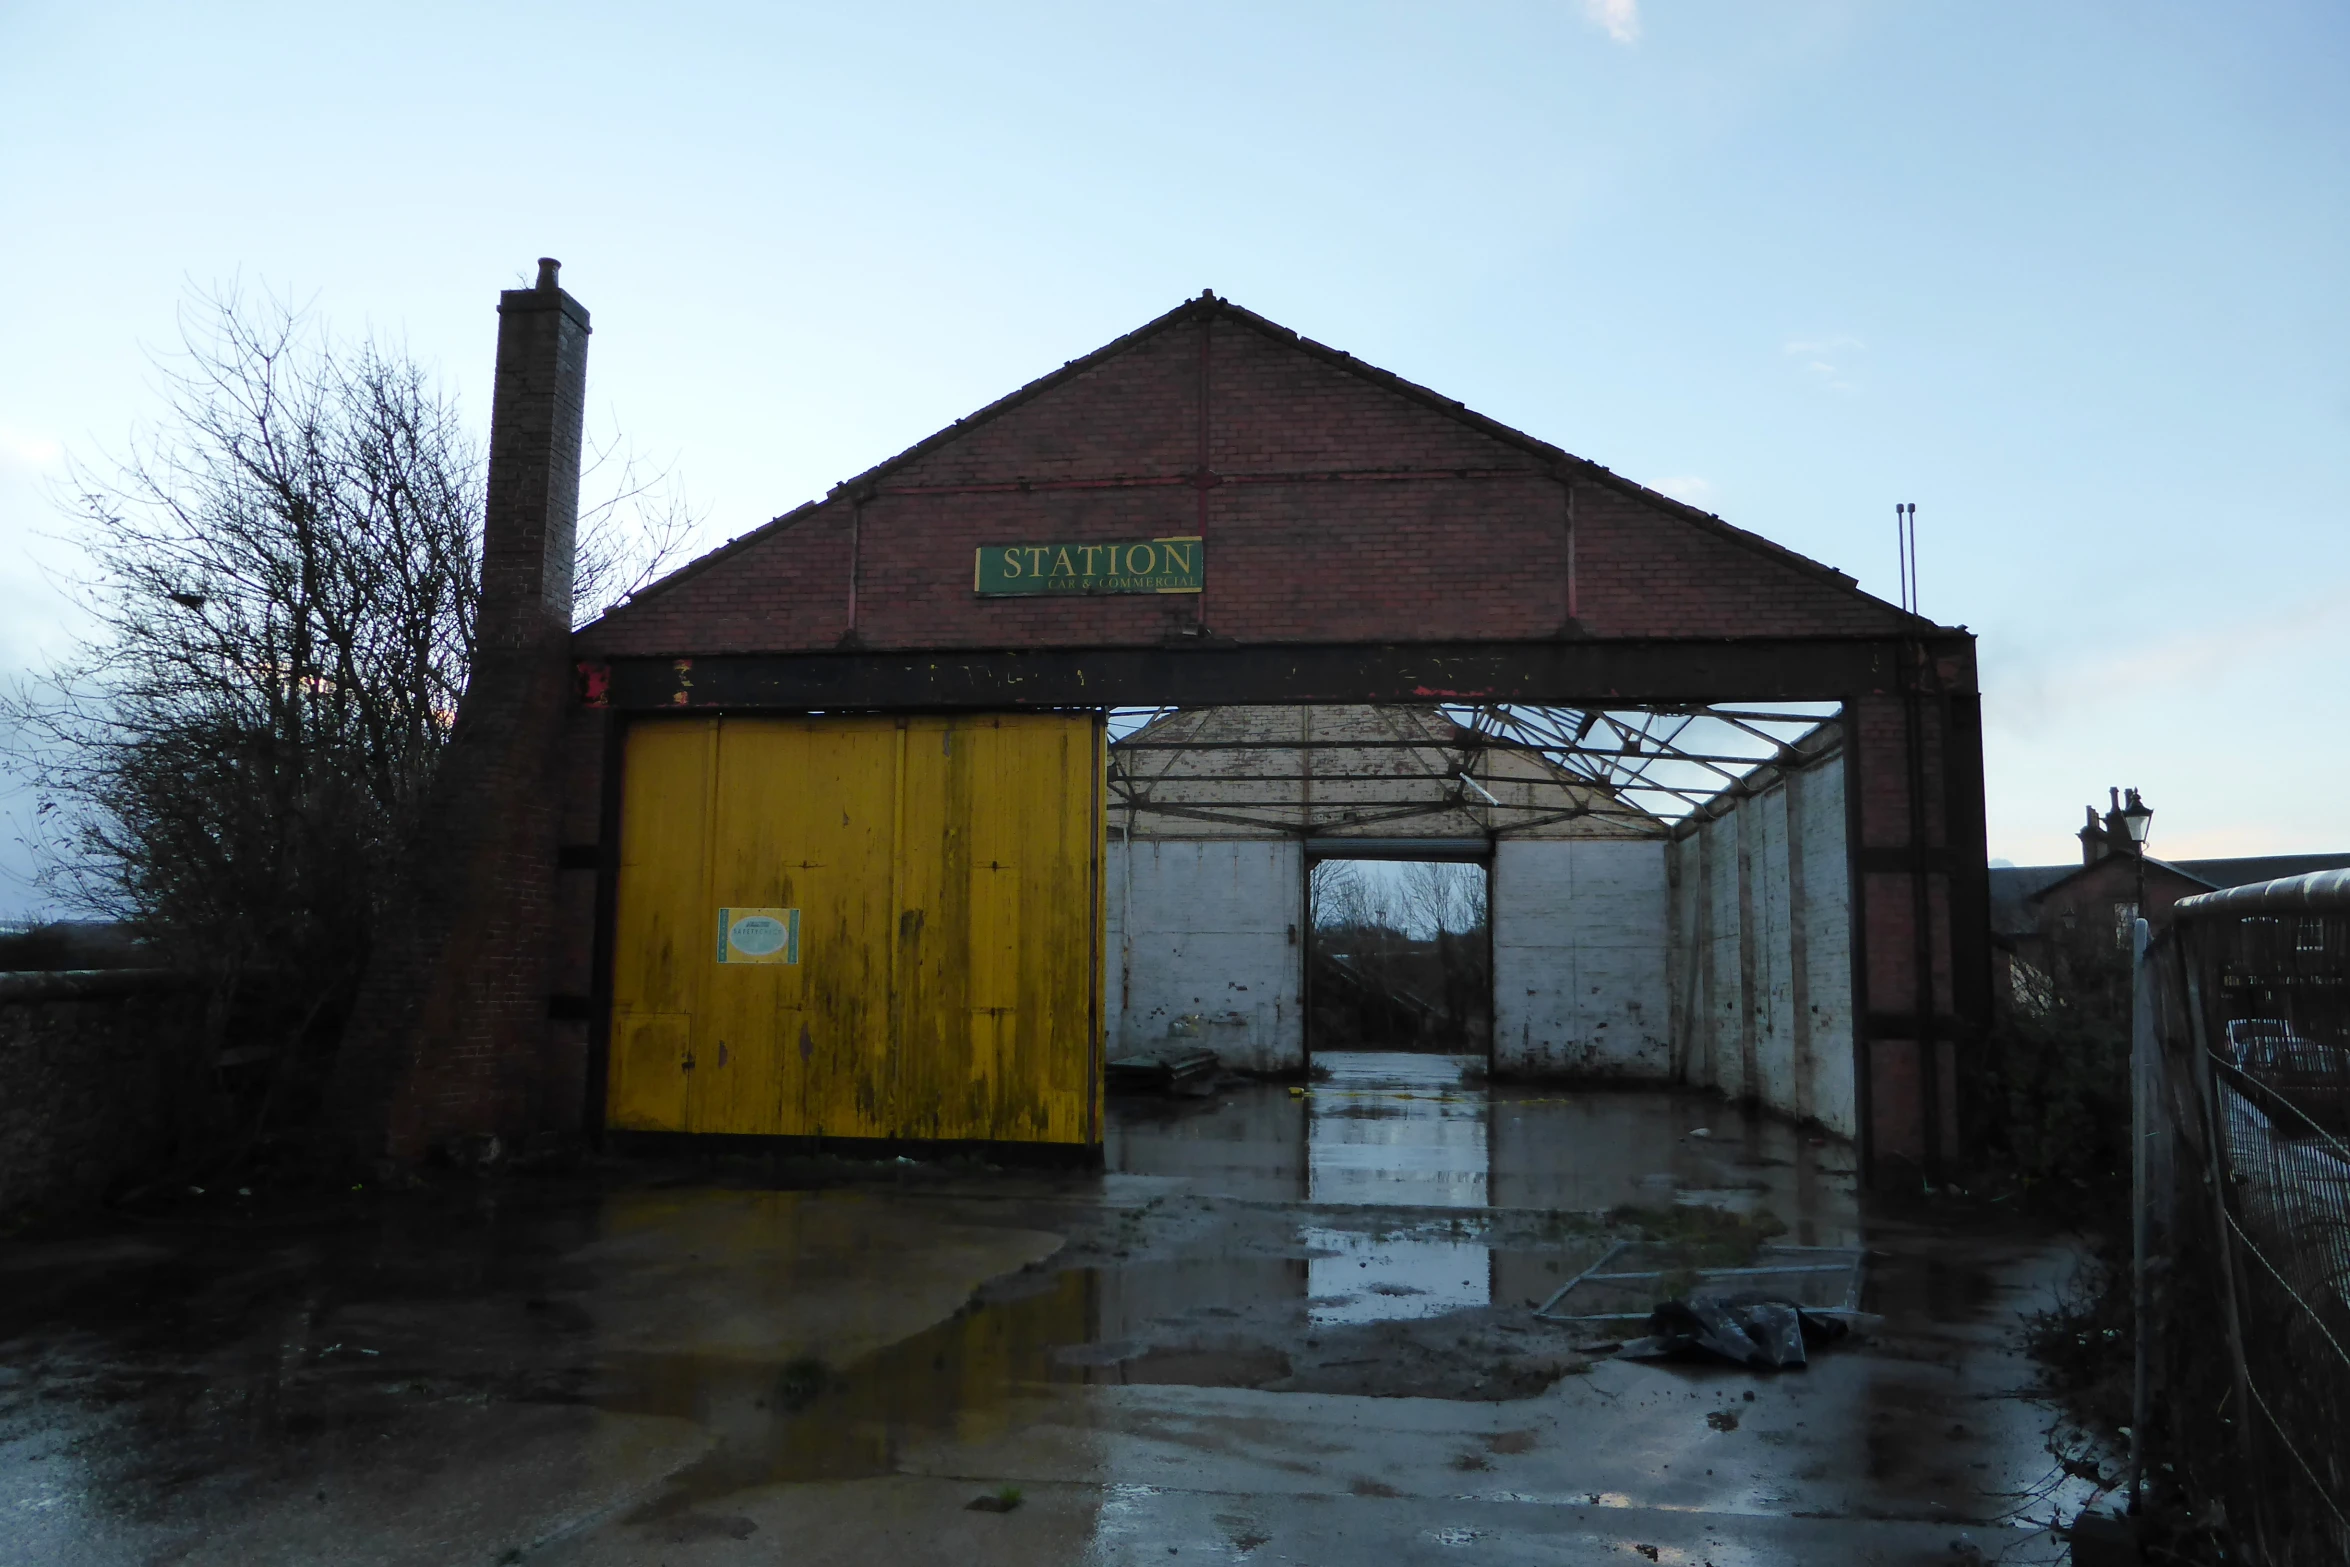
{"type": "MultiPolygon", "coordinates": [[[[496,291],[743,533],[1203,287],[1981,637],[1990,853],[2350,848],[2334,0],[0,0],[0,679],[195,291],[496,291]]],[[[0,778],[0,916],[40,907],[0,778]]]]}

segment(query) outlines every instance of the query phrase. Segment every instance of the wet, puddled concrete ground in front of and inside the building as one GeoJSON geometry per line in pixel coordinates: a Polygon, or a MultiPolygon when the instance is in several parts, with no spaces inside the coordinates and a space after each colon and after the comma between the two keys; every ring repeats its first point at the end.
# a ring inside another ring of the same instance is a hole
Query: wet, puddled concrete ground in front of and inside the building
{"type": "Polygon", "coordinates": [[[2061,1245],[1873,1215],[1704,1097],[1323,1064],[1119,1104],[1102,1175],[616,1163],[0,1245],[0,1562],[2063,1558],[2014,1346],[2061,1245]],[[1579,1353],[1530,1304],[1626,1205],[1866,1245],[1882,1323],[1579,1353]]]}

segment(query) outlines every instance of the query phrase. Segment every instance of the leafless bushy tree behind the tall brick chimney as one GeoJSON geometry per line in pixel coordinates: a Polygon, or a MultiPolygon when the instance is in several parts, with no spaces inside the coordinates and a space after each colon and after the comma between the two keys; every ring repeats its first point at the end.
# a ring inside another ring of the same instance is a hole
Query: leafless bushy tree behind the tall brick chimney
{"type": "MultiPolygon", "coordinates": [[[[301,1038],[348,1001],[472,660],[482,446],[397,348],[277,298],[190,301],[164,421],[70,470],[94,634],[0,695],[45,883],[301,1038]]],[[[583,515],[599,613],[691,517],[616,444],[583,515]]],[[[324,1029],[320,1029],[324,1031],[324,1029]]]]}

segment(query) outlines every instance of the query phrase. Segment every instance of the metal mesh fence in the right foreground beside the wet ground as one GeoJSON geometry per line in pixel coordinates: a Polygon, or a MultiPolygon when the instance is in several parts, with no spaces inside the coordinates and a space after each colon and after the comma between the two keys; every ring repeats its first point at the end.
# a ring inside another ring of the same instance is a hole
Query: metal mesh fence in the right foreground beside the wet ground
{"type": "Polygon", "coordinates": [[[2138,947],[2134,1466],[2254,1560],[2350,1562],[2350,872],[2138,947]]]}

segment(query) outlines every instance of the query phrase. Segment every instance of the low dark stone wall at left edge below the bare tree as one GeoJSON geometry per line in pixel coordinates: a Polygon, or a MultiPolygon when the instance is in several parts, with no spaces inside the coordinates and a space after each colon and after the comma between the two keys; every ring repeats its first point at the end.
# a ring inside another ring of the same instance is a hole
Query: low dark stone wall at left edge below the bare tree
{"type": "Polygon", "coordinates": [[[193,991],[153,968],[0,973],[0,1229],[162,1170],[195,1102],[193,991]]]}

